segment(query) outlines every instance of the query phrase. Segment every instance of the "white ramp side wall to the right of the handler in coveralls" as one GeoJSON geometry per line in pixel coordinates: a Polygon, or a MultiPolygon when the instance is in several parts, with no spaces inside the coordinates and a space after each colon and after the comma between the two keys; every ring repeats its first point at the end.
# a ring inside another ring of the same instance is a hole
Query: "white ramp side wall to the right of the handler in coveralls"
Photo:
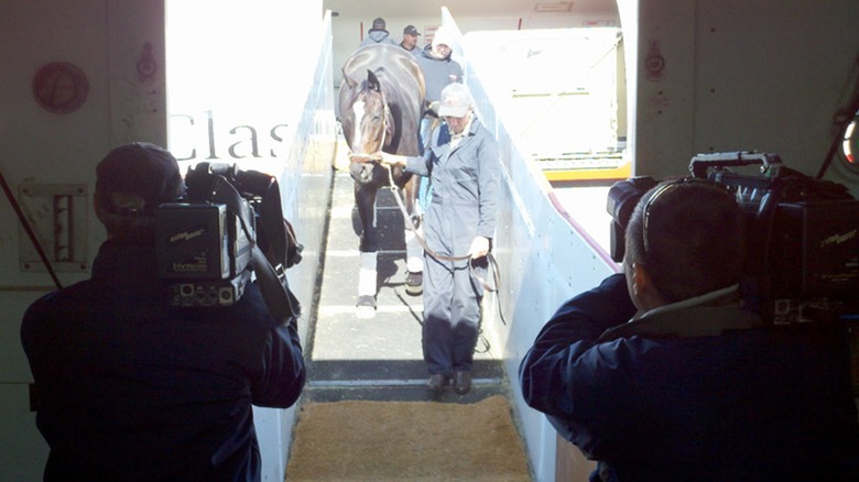
{"type": "MultiPolygon", "coordinates": [[[[456,26],[445,10],[444,24],[456,26]]],[[[458,29],[456,29],[458,32],[458,29]]],[[[545,417],[528,407],[521,396],[519,364],[539,330],[563,302],[596,286],[618,270],[610,256],[561,208],[543,173],[526,161],[504,128],[504,113],[497,112],[490,86],[496,72],[469,56],[479,51],[479,34],[461,39],[466,84],[471,90],[479,118],[496,134],[502,169],[502,199],[494,255],[500,272],[500,304],[487,296],[483,331],[494,355],[504,360],[521,419],[525,442],[540,481],[554,480],[555,430],[545,417]],[[466,62],[468,61],[468,62],[466,62]],[[500,305],[501,314],[498,313],[500,305]]],[[[497,99],[498,100],[498,99],[497,99]]],[[[605,209],[605,205],[594,209],[605,209]]]]}

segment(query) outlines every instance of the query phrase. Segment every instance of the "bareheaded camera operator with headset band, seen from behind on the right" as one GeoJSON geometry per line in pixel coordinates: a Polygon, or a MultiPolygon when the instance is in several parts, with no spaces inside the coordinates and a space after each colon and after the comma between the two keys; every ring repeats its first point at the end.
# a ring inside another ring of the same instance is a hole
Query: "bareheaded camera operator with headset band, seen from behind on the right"
{"type": "Polygon", "coordinates": [[[520,366],[525,402],[591,480],[859,480],[842,331],[742,309],[742,215],[724,185],[663,182],[624,274],[566,302],[520,366]]]}

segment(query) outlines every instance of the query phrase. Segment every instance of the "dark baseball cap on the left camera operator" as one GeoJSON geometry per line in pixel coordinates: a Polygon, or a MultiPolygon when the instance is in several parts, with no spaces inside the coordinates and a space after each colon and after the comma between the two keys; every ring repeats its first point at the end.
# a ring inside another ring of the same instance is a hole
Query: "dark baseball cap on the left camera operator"
{"type": "Polygon", "coordinates": [[[176,200],[185,190],[176,157],[148,142],[132,142],[110,151],[96,167],[96,199],[108,211],[126,215],[115,195],[137,195],[143,206],[135,216],[153,216],[155,207],[176,200]]]}

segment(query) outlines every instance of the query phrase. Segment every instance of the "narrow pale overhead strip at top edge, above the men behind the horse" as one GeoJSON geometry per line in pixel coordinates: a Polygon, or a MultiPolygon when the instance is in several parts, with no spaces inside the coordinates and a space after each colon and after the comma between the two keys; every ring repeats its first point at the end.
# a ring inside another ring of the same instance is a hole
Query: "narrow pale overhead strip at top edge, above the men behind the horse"
{"type": "Polygon", "coordinates": [[[512,17],[526,19],[533,13],[589,14],[617,12],[615,0],[323,0],[323,8],[346,19],[371,22],[377,17],[432,18],[447,7],[457,17],[512,17]]]}

